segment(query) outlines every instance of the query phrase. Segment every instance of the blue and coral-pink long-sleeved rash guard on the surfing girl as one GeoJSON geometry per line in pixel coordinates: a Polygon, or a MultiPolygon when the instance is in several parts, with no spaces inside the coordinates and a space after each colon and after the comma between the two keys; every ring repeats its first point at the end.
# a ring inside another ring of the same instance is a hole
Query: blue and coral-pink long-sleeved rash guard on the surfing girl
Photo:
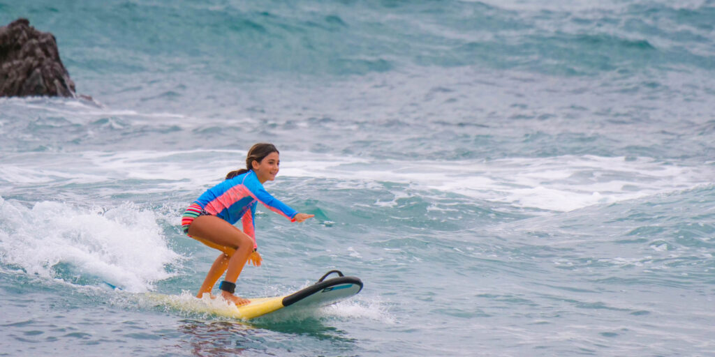
{"type": "Polygon", "coordinates": [[[290,219],[291,222],[295,222],[294,217],[298,212],[271,196],[258,181],[253,170],[209,188],[199,196],[199,199],[194,201],[207,213],[222,218],[228,223],[235,224],[242,219],[243,231],[253,239],[253,248],[257,248],[253,220],[256,216],[258,202],[263,203],[271,211],[290,219]]]}

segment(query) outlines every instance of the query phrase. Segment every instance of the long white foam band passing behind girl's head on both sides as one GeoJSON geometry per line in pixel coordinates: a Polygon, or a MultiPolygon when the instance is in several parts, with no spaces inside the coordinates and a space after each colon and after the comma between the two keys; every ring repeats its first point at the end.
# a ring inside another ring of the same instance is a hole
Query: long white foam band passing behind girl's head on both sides
{"type": "MultiPolygon", "coordinates": [[[[0,181],[32,186],[52,181],[83,184],[137,179],[154,181],[142,186],[143,193],[202,191],[226,172],[242,166],[244,157],[245,151],[232,150],[30,153],[4,163],[0,181]]],[[[374,162],[285,151],[281,159],[283,177],[330,178],[350,188],[368,189],[380,182],[402,183],[418,190],[551,211],[683,191],[710,183],[715,174],[714,166],[708,163],[686,166],[622,156],[374,162]]],[[[395,199],[405,196],[399,190],[394,194],[395,199]]],[[[394,201],[375,204],[390,206],[394,201]]]]}

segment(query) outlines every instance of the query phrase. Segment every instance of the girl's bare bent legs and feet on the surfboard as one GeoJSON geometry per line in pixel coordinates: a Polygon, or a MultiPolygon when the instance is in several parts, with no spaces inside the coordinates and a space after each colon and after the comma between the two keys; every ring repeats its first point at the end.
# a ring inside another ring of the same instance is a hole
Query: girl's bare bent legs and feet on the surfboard
{"type": "MultiPolygon", "coordinates": [[[[189,236],[230,256],[227,264],[226,281],[235,283],[253,250],[251,237],[231,223],[216,216],[198,216],[195,218],[191,226],[189,226],[189,236]]],[[[216,265],[217,261],[214,262],[214,265],[216,265]]],[[[218,263],[220,264],[221,262],[218,263]]],[[[220,265],[217,266],[217,271],[220,267],[220,265]]],[[[213,270],[214,267],[212,266],[213,270]]],[[[209,273],[212,273],[212,271],[209,271],[209,273]]],[[[214,274],[207,276],[207,280],[213,276],[214,274]]],[[[209,281],[204,281],[204,284],[208,285],[208,283],[209,281]]],[[[201,292],[199,291],[199,293],[201,292]]],[[[247,299],[238,298],[227,291],[221,291],[221,295],[228,301],[233,301],[236,305],[249,302],[247,299]]]]}

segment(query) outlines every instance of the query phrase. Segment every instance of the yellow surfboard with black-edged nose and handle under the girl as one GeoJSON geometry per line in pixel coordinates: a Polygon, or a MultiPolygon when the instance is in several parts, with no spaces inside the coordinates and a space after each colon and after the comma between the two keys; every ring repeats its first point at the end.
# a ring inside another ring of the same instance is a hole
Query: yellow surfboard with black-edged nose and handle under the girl
{"type": "Polygon", "coordinates": [[[305,308],[310,306],[327,306],[337,301],[350,298],[363,290],[363,281],[355,276],[344,276],[342,272],[328,271],[316,283],[306,288],[302,288],[295,293],[284,296],[273,296],[270,298],[249,298],[251,301],[246,305],[235,306],[228,304],[222,299],[211,298],[182,298],[182,296],[172,296],[163,294],[151,294],[149,297],[162,304],[177,308],[182,311],[192,311],[197,313],[210,313],[212,315],[224,316],[248,320],[264,316],[285,308],[305,308]],[[337,273],[336,278],[325,279],[332,273],[337,273]]]}

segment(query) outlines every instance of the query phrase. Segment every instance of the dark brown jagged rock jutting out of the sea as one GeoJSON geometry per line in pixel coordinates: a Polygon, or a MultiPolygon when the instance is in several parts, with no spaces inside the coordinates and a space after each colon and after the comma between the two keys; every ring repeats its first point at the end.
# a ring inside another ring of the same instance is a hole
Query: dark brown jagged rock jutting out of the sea
{"type": "Polygon", "coordinates": [[[0,96],[76,96],[56,39],[27,19],[0,27],[0,96]]]}

